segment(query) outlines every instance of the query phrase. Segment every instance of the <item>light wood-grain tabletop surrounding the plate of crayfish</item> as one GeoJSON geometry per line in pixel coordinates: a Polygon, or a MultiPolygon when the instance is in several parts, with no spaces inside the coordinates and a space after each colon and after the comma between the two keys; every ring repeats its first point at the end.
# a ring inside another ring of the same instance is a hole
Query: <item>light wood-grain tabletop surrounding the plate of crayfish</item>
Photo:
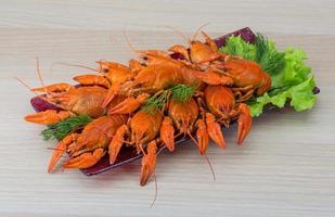
{"type": "Polygon", "coordinates": [[[333,0],[1,1],[0,216],[335,216],[334,14],[333,0]],[[33,94],[14,76],[39,86],[39,56],[48,84],[69,81],[87,72],[52,63],[133,58],[125,28],[134,47],[165,49],[183,41],[159,26],[192,34],[206,22],[212,37],[250,26],[304,48],[321,88],[315,107],[262,115],[242,149],[235,127],[224,130],[228,149],[208,150],[216,181],[192,143],[160,154],[153,208],[139,162],[94,177],[47,174],[53,142],[23,120],[33,94]]]}

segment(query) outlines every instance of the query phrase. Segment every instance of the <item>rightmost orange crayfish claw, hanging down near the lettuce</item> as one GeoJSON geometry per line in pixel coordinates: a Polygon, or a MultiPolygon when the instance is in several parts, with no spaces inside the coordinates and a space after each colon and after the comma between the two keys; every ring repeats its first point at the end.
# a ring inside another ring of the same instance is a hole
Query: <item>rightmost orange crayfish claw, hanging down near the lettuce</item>
{"type": "Polygon", "coordinates": [[[246,136],[252,129],[253,117],[252,117],[249,107],[244,103],[241,103],[239,105],[239,112],[240,112],[240,116],[237,119],[237,123],[239,123],[237,144],[241,145],[243,140],[246,138],[246,136]]]}

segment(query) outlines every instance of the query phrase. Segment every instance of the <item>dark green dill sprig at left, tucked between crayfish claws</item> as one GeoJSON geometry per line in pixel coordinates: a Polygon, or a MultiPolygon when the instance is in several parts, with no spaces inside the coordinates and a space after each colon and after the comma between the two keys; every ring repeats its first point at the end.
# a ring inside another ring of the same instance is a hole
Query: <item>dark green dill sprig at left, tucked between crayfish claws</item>
{"type": "Polygon", "coordinates": [[[56,139],[62,140],[69,133],[83,128],[87,124],[92,122],[92,118],[88,115],[79,115],[75,117],[69,117],[63,122],[49,125],[47,129],[41,131],[41,136],[44,140],[56,139]]]}

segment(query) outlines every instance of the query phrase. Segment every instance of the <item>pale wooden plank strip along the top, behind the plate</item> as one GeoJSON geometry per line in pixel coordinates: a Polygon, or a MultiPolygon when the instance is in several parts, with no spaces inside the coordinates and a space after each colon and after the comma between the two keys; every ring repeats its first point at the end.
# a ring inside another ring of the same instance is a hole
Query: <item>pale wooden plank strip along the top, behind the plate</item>
{"type": "Polygon", "coordinates": [[[220,33],[249,26],[260,31],[320,35],[335,34],[334,11],[332,0],[2,0],[0,26],[163,31],[162,25],[170,25],[194,31],[209,22],[207,29],[220,33]]]}

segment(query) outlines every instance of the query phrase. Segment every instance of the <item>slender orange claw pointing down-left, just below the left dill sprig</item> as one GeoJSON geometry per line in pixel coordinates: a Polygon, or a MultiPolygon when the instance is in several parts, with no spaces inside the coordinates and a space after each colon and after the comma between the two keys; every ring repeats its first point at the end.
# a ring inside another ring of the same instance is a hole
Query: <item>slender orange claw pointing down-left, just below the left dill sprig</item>
{"type": "Polygon", "coordinates": [[[54,166],[60,161],[63,153],[66,151],[67,146],[70,143],[73,143],[77,139],[77,137],[78,136],[76,133],[72,133],[72,135],[68,135],[67,137],[65,137],[62,141],[60,141],[57,143],[57,145],[55,146],[55,149],[53,151],[52,157],[49,162],[48,173],[51,173],[53,170],[54,166]]]}

